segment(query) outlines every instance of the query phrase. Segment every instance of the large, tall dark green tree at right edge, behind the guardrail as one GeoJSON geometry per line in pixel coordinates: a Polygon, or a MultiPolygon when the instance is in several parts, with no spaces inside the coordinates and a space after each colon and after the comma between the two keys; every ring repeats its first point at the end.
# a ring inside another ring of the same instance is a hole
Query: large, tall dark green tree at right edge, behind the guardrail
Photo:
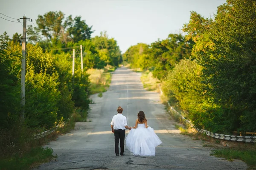
{"type": "Polygon", "coordinates": [[[185,31],[196,38],[193,55],[203,66],[204,83],[214,102],[225,111],[230,130],[255,131],[256,124],[256,2],[227,0],[218,7],[214,21],[189,25],[185,31]],[[209,24],[207,24],[209,23],[209,24]],[[196,25],[198,24],[198,25],[196,25]]]}

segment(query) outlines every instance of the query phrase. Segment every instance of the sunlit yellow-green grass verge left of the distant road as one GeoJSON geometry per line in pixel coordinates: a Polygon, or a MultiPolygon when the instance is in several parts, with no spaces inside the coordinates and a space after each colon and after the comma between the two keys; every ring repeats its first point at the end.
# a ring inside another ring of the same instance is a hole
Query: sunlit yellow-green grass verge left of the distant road
{"type": "Polygon", "coordinates": [[[99,93],[99,97],[102,97],[102,93],[108,90],[111,83],[111,72],[115,71],[112,66],[106,66],[104,69],[88,69],[87,74],[90,74],[90,94],[99,93]]]}

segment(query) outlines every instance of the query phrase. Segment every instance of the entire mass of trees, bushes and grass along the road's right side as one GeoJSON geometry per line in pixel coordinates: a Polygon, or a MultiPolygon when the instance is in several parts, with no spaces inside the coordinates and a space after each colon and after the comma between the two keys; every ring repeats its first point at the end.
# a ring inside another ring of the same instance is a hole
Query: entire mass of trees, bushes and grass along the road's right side
{"type": "MultiPolygon", "coordinates": [[[[183,26],[185,36],[169,34],[149,45],[138,43],[123,54],[123,60],[132,69],[144,71],[142,79],[149,75],[158,79],[164,101],[195,128],[230,135],[256,132],[255,10],[253,0],[227,0],[211,18],[191,11],[183,26]]],[[[154,82],[143,83],[148,90],[155,89],[151,88],[154,82]]],[[[212,154],[255,167],[255,147],[238,148],[217,149],[212,154]]]]}

